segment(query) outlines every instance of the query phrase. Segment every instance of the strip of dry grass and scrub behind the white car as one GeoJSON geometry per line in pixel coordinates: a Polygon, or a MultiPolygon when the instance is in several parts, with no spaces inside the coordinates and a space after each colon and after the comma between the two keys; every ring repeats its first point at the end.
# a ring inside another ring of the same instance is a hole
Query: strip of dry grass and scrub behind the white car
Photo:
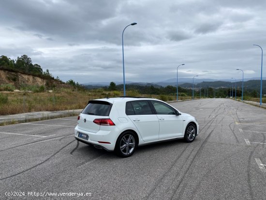
{"type": "MultiPolygon", "coordinates": [[[[0,115],[10,115],[34,111],[58,111],[85,108],[90,99],[123,96],[123,92],[103,89],[78,91],[59,88],[53,92],[0,92],[0,115]]],[[[174,100],[170,95],[142,95],[137,91],[127,91],[127,96],[143,96],[163,101],[174,100]]],[[[179,97],[183,99],[191,97],[179,97]]]]}

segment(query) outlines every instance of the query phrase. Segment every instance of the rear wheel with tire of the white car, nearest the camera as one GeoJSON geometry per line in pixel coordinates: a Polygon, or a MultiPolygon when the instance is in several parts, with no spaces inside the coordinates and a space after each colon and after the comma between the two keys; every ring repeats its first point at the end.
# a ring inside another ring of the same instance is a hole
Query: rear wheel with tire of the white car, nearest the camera
{"type": "Polygon", "coordinates": [[[137,139],[133,132],[126,131],[122,133],[116,143],[115,153],[120,157],[131,156],[137,147],[137,139]]]}

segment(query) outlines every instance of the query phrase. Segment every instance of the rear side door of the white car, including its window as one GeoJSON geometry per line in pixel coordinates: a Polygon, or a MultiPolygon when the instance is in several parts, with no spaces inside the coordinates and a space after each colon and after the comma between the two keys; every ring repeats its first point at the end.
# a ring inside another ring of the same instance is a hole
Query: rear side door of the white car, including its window
{"type": "Polygon", "coordinates": [[[126,114],[145,142],[159,139],[159,120],[152,112],[147,100],[127,102],[126,114]]]}

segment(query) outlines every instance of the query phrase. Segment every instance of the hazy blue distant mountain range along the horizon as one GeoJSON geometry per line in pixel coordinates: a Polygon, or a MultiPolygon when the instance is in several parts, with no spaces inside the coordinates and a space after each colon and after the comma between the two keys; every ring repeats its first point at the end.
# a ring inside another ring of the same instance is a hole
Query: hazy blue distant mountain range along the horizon
{"type": "MultiPolygon", "coordinates": [[[[244,78],[244,81],[249,81],[249,80],[260,80],[260,78],[244,78]]],[[[266,80],[266,78],[263,78],[263,80],[266,80]]],[[[120,84],[123,84],[123,82],[121,81],[114,81],[117,85],[120,85],[120,84]]],[[[202,83],[202,84],[208,84],[209,85],[212,85],[210,84],[211,82],[216,82],[218,83],[218,85],[228,85],[228,84],[231,84],[231,83],[234,83],[235,80],[233,79],[222,79],[222,80],[219,80],[219,79],[198,79],[198,78],[194,78],[194,84],[195,86],[197,87],[197,85],[199,86],[199,83],[202,83]]],[[[242,79],[236,79],[236,82],[241,82],[242,84],[242,79]]],[[[154,87],[160,87],[160,86],[163,86],[163,87],[166,87],[168,85],[170,86],[177,86],[177,78],[171,78],[171,79],[167,79],[167,80],[163,80],[163,81],[159,81],[159,82],[151,82],[151,83],[148,83],[148,82],[131,82],[131,81],[127,81],[126,84],[132,84],[132,85],[142,85],[142,86],[154,86],[154,87]]],[[[238,85],[239,83],[237,83],[238,85]]],[[[82,85],[88,85],[88,86],[96,86],[96,87],[90,87],[90,88],[101,88],[101,87],[104,87],[104,86],[109,86],[110,85],[110,82],[89,82],[89,83],[83,83],[82,85]]],[[[217,85],[217,84],[215,84],[217,85]]],[[[180,87],[192,87],[192,78],[178,78],[178,86],[180,87]]],[[[220,87],[221,87],[220,86],[220,87]]],[[[219,86],[217,86],[219,87],[219,86]]],[[[226,86],[224,86],[226,87],[226,86]]]]}

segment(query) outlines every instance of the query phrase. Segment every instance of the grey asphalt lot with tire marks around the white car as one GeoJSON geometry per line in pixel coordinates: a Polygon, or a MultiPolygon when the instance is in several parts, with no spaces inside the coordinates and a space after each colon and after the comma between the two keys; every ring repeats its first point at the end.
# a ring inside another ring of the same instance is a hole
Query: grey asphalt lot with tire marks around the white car
{"type": "Polygon", "coordinates": [[[0,126],[0,199],[266,199],[266,110],[230,99],[172,105],[196,117],[199,136],[129,158],[77,142],[76,117],[0,126]]]}

